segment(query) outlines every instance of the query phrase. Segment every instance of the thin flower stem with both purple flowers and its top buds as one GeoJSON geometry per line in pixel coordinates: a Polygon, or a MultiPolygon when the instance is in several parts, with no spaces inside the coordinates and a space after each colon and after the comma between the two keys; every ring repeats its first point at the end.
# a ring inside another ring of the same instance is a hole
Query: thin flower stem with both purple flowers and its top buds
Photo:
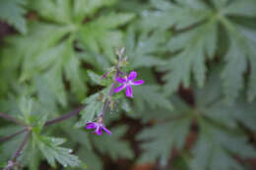
{"type": "MultiPolygon", "coordinates": [[[[121,49],[119,52],[117,52],[117,55],[119,56],[119,61],[120,58],[122,56],[124,52],[124,49],[121,49]]],[[[112,87],[109,91],[109,96],[107,97],[106,101],[104,101],[104,106],[103,106],[103,110],[98,118],[97,122],[88,122],[86,125],[86,128],[88,130],[91,129],[95,129],[94,133],[98,136],[102,135],[102,131],[106,132],[108,135],[111,135],[111,132],[109,130],[107,130],[103,123],[102,123],[102,117],[103,114],[105,112],[105,108],[108,107],[109,103],[110,103],[110,96],[115,92],[119,92],[121,90],[123,90],[124,88],[126,88],[126,96],[133,98],[133,89],[132,89],[132,85],[143,85],[144,81],[143,80],[139,80],[139,81],[135,81],[135,79],[137,78],[137,73],[135,71],[132,71],[129,76],[127,76],[125,73],[121,72],[119,69],[120,63],[118,62],[117,67],[115,69],[116,71],[116,75],[114,78],[114,83],[112,84],[112,87]],[[120,75],[122,75],[122,77],[120,77],[120,75]],[[119,83],[121,85],[115,87],[116,83],[119,83]]],[[[102,76],[102,79],[106,78],[109,75],[109,73],[105,74],[102,76]]]]}

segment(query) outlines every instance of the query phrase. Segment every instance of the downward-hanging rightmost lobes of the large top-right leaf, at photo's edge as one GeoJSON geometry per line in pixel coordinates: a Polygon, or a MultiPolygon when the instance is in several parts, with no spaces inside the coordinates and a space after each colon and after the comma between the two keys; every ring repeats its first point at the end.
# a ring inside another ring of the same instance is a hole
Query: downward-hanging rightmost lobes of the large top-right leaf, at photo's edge
{"type": "Polygon", "coordinates": [[[247,60],[249,59],[252,72],[250,75],[251,82],[249,83],[248,98],[249,100],[253,100],[256,95],[256,85],[254,81],[254,60],[256,58],[256,51],[253,47],[256,45],[255,31],[250,28],[237,26],[226,19],[223,19],[222,23],[228,30],[230,37],[230,45],[225,56],[227,65],[222,75],[226,98],[232,101],[238,96],[239,90],[243,88],[243,75],[246,72],[247,60]],[[235,72],[233,72],[233,68],[236,68],[235,72]]]}

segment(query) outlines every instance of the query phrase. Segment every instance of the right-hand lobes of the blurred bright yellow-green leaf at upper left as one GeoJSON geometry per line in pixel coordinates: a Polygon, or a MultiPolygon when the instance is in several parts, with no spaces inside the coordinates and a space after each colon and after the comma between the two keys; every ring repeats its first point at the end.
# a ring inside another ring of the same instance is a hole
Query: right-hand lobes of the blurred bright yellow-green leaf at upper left
{"type": "Polygon", "coordinates": [[[133,18],[133,14],[110,13],[101,16],[80,28],[80,40],[93,51],[99,53],[102,49],[108,59],[113,62],[115,59],[113,49],[123,44],[123,33],[116,28],[127,24],[133,18]]]}

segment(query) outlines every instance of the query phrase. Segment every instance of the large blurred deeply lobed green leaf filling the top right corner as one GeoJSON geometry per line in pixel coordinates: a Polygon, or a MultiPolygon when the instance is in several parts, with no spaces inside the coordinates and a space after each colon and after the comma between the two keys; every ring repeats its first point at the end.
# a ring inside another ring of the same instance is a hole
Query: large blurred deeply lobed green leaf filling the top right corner
{"type": "MultiPolygon", "coordinates": [[[[171,93],[175,91],[180,83],[189,86],[191,82],[191,72],[199,86],[203,86],[206,80],[206,61],[212,60],[216,50],[220,48],[218,42],[223,41],[218,38],[219,30],[225,29],[228,36],[228,46],[225,52],[225,66],[222,73],[224,93],[228,101],[237,97],[238,92],[243,88],[243,74],[246,71],[246,60],[249,57],[250,65],[254,70],[253,58],[255,58],[255,30],[244,28],[235,24],[231,17],[256,17],[255,1],[245,1],[242,5],[240,1],[231,2],[213,1],[215,7],[203,1],[177,1],[171,3],[166,0],[152,1],[154,11],[144,18],[147,28],[161,29],[175,28],[191,29],[176,33],[167,43],[167,48],[171,52],[178,52],[177,55],[169,59],[169,63],[164,70],[171,71],[165,76],[167,84],[165,91],[171,93]],[[254,4],[254,5],[252,5],[254,4]],[[244,10],[248,8],[248,10],[244,10]],[[246,13],[244,12],[246,11],[246,13]],[[158,21],[157,25],[151,25],[153,21],[158,21]],[[222,28],[219,28],[219,25],[222,28]],[[180,51],[181,50],[181,51],[180,51]],[[250,57],[251,56],[251,57],[250,57]],[[179,67],[182,65],[183,67],[179,67]],[[236,68],[236,71],[233,71],[236,68]]],[[[253,74],[250,78],[250,88],[248,97],[254,98],[253,74]]]]}

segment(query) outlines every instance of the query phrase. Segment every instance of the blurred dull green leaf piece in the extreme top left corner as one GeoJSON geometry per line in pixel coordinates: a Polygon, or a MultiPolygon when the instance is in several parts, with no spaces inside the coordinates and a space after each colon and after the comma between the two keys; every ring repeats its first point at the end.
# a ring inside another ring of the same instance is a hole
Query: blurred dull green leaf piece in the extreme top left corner
{"type": "Polygon", "coordinates": [[[20,32],[27,32],[27,22],[24,18],[26,0],[1,0],[0,20],[17,28],[20,32]]]}

